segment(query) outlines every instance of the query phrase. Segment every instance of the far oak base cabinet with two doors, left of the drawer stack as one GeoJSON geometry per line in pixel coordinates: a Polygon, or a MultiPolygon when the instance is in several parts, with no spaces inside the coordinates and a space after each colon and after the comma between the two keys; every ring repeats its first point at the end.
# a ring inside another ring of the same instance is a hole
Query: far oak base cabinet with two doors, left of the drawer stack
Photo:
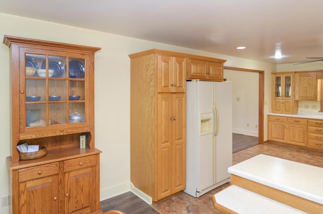
{"type": "Polygon", "coordinates": [[[268,115],[268,140],[307,146],[307,119],[268,115]]]}

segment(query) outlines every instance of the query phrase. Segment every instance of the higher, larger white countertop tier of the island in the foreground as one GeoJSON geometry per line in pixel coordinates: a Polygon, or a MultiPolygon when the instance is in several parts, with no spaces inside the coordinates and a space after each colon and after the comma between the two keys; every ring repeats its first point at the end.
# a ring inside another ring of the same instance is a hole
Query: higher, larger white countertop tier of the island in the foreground
{"type": "Polygon", "coordinates": [[[323,204],[323,168],[261,154],[228,172],[323,204]]]}

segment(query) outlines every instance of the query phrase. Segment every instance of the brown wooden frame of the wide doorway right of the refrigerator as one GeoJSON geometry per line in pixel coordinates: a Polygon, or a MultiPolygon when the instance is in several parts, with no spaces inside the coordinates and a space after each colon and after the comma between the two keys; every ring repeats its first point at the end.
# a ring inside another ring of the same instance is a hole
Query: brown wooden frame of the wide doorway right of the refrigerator
{"type": "Polygon", "coordinates": [[[238,72],[254,72],[259,74],[258,94],[258,143],[263,144],[263,121],[264,121],[264,70],[254,70],[241,67],[224,66],[225,70],[237,70],[238,72]]]}

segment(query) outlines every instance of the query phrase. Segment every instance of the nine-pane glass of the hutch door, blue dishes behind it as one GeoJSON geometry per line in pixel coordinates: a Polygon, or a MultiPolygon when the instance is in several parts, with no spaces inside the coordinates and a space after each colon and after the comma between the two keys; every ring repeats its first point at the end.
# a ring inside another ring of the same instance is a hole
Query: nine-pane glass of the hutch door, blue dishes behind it
{"type": "Polygon", "coordinates": [[[85,122],[85,59],[25,54],[26,127],[85,122]]]}

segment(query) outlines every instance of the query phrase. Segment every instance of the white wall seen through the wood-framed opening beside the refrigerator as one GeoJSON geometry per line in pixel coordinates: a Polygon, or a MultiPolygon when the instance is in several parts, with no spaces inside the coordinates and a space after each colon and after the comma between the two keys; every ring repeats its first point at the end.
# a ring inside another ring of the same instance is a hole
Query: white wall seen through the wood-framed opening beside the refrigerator
{"type": "Polygon", "coordinates": [[[259,74],[224,70],[224,78],[232,81],[232,131],[258,136],[259,74]]]}

